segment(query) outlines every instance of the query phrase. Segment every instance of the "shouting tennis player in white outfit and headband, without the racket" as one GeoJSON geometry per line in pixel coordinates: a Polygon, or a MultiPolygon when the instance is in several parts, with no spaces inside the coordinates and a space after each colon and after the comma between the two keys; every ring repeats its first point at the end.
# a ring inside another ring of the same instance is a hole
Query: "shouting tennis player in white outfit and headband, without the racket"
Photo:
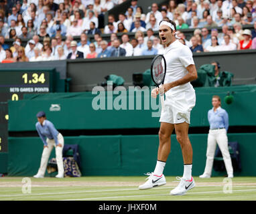
{"type": "Polygon", "coordinates": [[[190,112],[196,104],[196,94],[192,80],[197,79],[196,66],[189,47],[183,45],[176,37],[176,23],[162,20],[159,23],[159,37],[162,44],[166,45],[164,58],[166,58],[166,78],[164,84],[151,91],[151,96],[166,94],[164,110],[162,109],[159,122],[159,147],[157,163],[153,173],[147,173],[147,182],[139,186],[139,189],[149,189],[166,184],[164,167],[171,149],[171,134],[175,129],[176,138],[182,149],[184,161],[184,173],[178,187],[173,189],[171,195],[184,195],[195,186],[192,177],[192,145],[188,138],[190,124],[190,112]]]}

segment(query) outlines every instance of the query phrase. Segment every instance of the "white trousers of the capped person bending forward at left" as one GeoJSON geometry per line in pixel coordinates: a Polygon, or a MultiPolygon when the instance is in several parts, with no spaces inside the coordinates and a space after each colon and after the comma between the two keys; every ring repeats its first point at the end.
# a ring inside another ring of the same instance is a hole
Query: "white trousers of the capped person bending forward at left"
{"type": "Polygon", "coordinates": [[[50,157],[50,154],[52,152],[52,149],[55,147],[55,152],[56,152],[56,162],[58,166],[58,175],[64,175],[64,165],[63,165],[63,159],[62,159],[62,150],[64,147],[64,138],[62,134],[58,134],[58,142],[59,144],[62,144],[62,147],[56,146],[55,140],[52,139],[46,139],[46,142],[48,144],[48,147],[45,147],[42,153],[42,158],[41,158],[41,164],[40,168],[38,170],[38,175],[44,176],[46,173],[46,167],[48,165],[48,160],[50,157]]]}

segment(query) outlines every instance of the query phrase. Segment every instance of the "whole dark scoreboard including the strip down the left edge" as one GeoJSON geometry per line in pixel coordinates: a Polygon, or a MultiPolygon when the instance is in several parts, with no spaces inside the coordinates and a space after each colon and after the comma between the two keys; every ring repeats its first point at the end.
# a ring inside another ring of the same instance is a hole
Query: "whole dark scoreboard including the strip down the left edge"
{"type": "Polygon", "coordinates": [[[0,152],[8,151],[7,101],[21,100],[27,93],[53,92],[55,74],[55,68],[0,69],[0,152]]]}

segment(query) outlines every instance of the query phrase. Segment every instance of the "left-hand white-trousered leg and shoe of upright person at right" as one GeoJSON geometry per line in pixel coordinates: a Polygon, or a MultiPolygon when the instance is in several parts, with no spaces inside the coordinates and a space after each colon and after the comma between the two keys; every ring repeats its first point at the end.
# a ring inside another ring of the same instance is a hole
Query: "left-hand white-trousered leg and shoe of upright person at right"
{"type": "Polygon", "coordinates": [[[214,161],[214,154],[216,150],[216,133],[215,130],[210,130],[207,138],[207,149],[206,149],[206,165],[204,168],[204,173],[200,175],[200,178],[206,179],[210,178],[212,175],[212,166],[214,161]]]}

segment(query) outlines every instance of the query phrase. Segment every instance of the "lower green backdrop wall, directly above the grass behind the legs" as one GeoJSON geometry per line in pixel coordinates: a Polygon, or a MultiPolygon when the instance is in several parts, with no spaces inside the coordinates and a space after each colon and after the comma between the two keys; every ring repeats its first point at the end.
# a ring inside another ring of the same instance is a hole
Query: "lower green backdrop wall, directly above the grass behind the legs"
{"type": "MultiPolygon", "coordinates": [[[[206,161],[207,134],[190,134],[193,147],[193,175],[201,175],[206,161]]],[[[242,171],[235,176],[256,176],[256,134],[228,134],[229,141],[240,146],[242,171]]],[[[180,144],[172,135],[171,153],[165,175],[182,176],[183,160],[180,144]]],[[[158,136],[64,136],[65,144],[78,144],[82,176],[143,175],[153,171],[157,158],[158,136]]],[[[9,137],[8,175],[32,176],[40,166],[43,144],[38,137],[9,137]]],[[[50,156],[54,157],[55,151],[50,156]]],[[[226,173],[212,171],[212,176],[226,173]]],[[[50,176],[46,173],[46,176],[50,176]]]]}

